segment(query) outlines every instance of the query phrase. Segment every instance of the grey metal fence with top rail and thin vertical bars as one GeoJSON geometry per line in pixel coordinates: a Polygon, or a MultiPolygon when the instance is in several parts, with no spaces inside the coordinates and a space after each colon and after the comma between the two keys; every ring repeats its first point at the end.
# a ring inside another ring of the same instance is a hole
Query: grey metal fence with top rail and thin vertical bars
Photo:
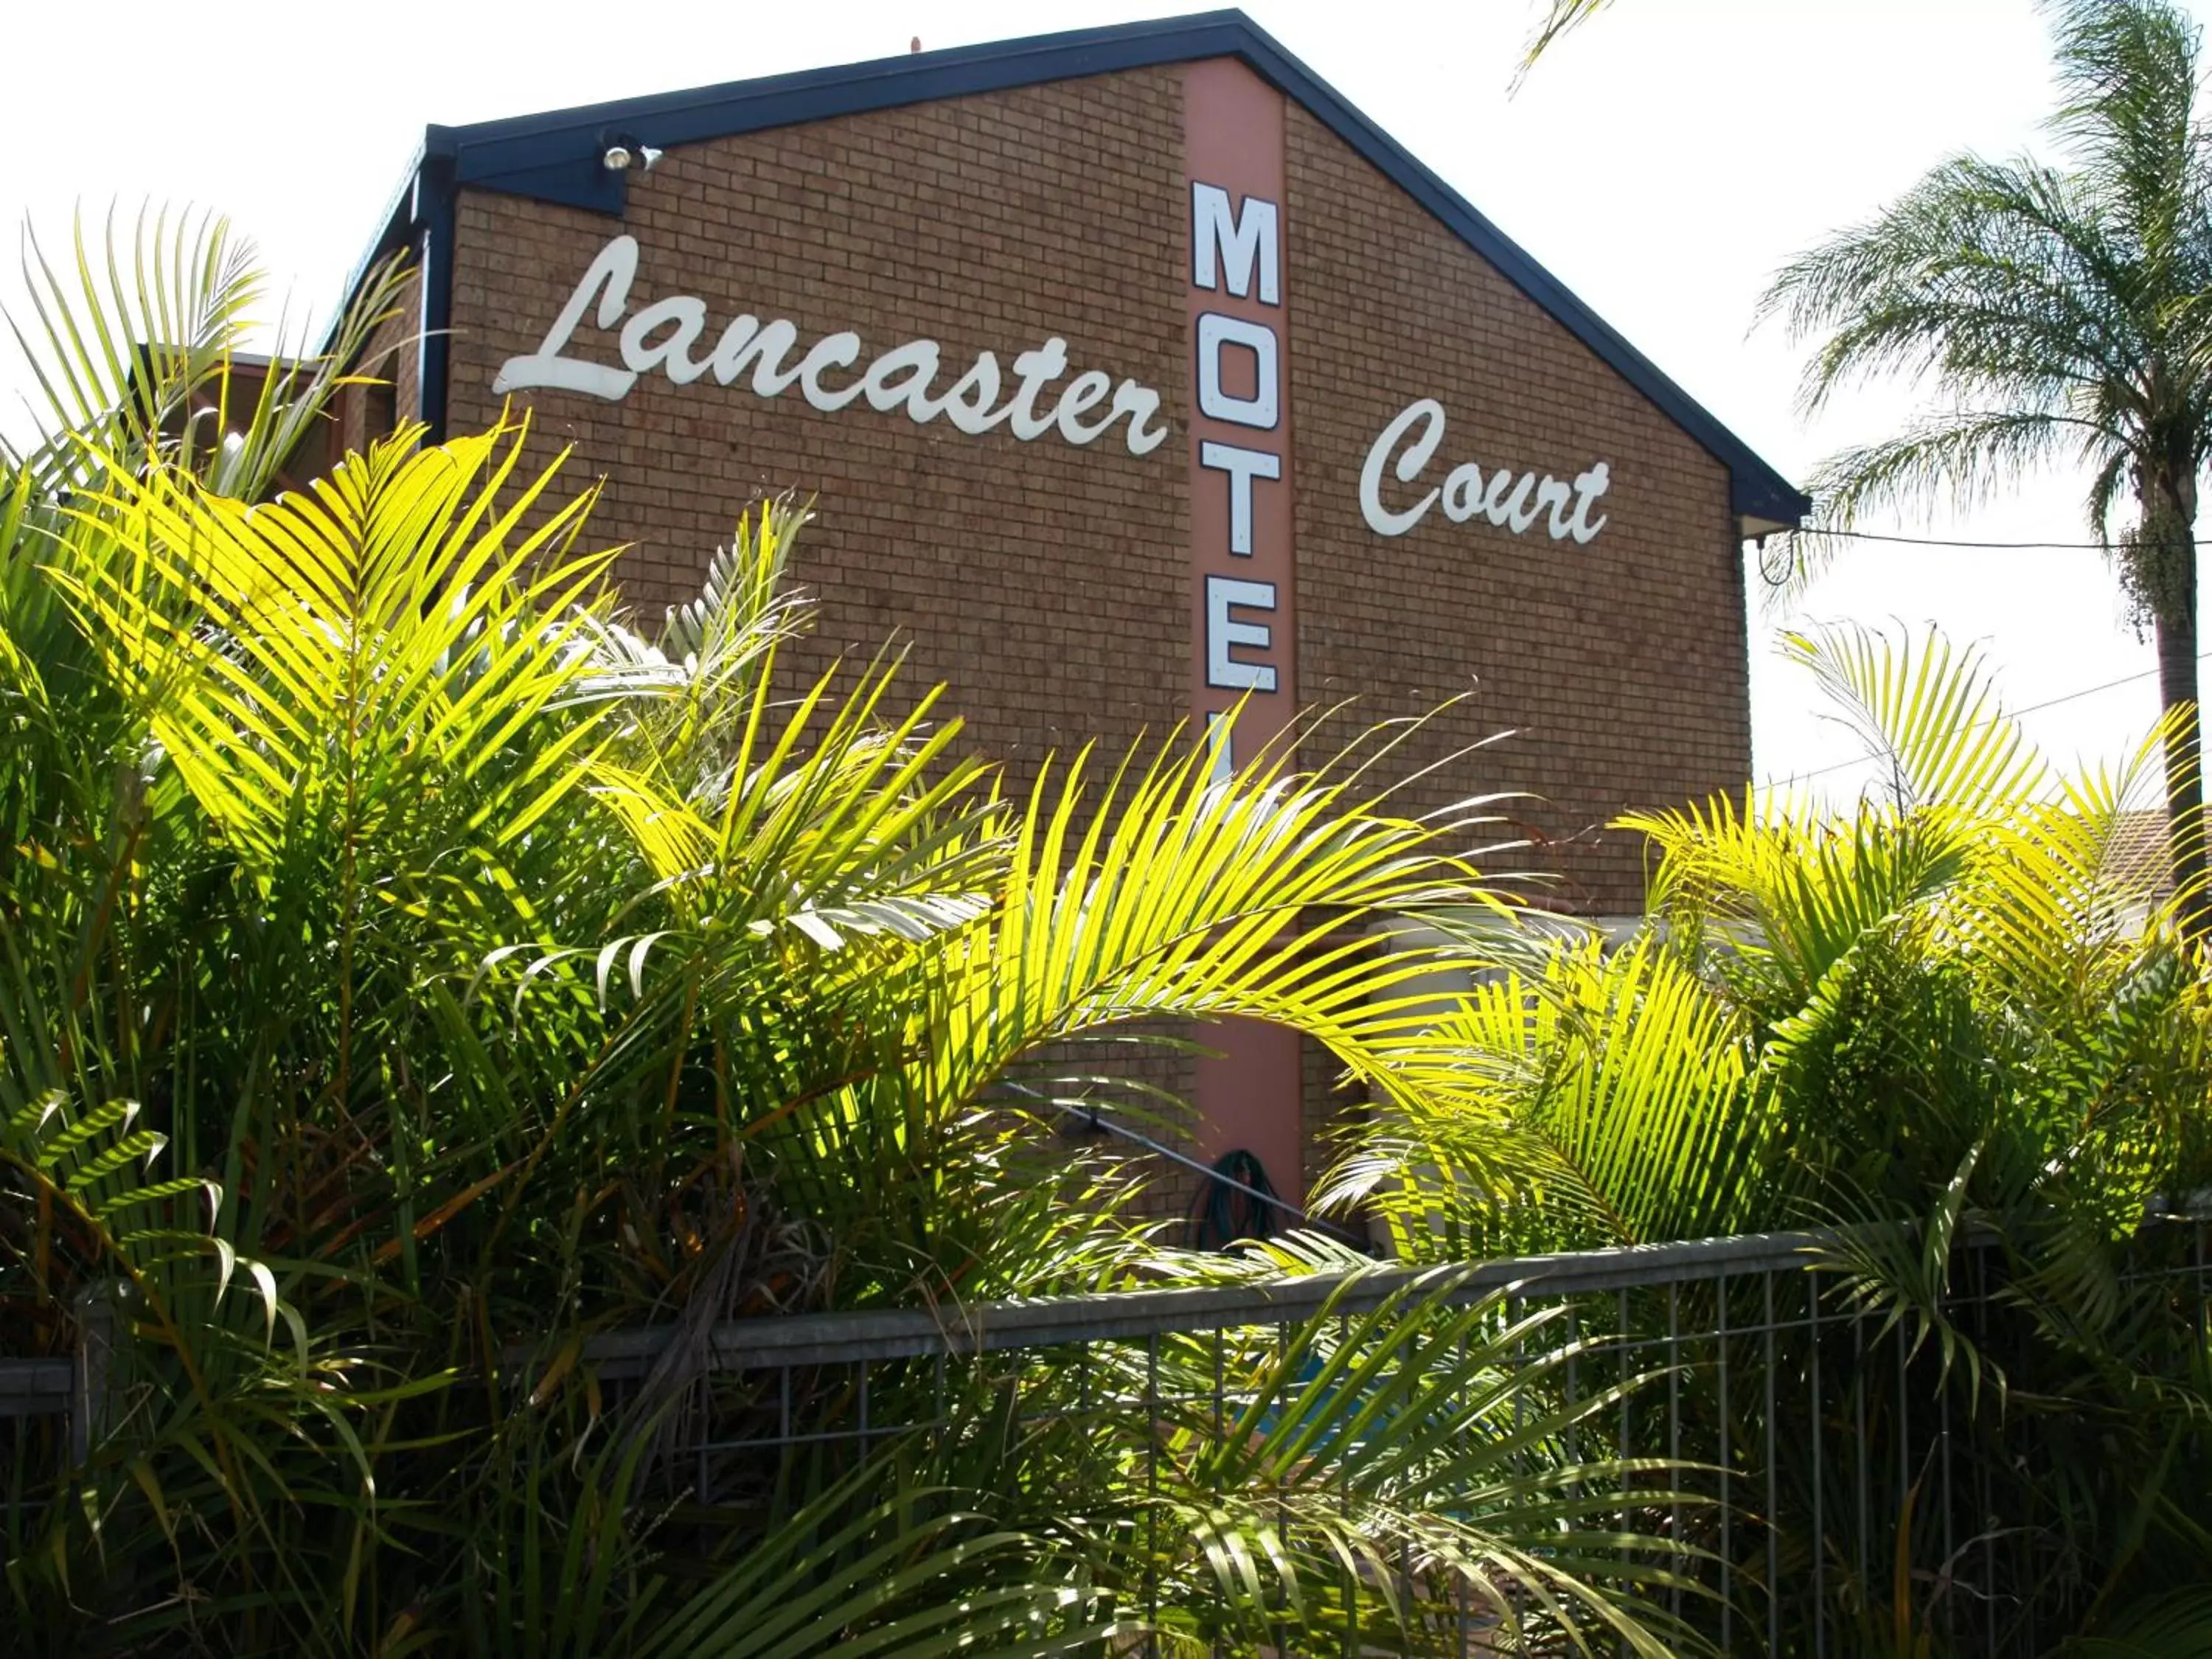
{"type": "MultiPolygon", "coordinates": [[[[2150,1221],[2110,1283],[2117,1316],[2139,1327],[2137,1349],[2177,1380],[2201,1376],[2208,1232],[2203,1214],[2150,1221]]],[[[2093,1593],[2046,1486],[2068,1453],[2070,1478],[2095,1469],[2066,1438],[2110,1431],[2097,1416],[2110,1380],[2068,1371],[2079,1360],[2037,1327],[1995,1241],[1958,1245],[1929,1310],[1907,1303],[1902,1318],[1849,1294],[1851,1279],[1834,1272],[1845,1243],[1801,1232],[1484,1263],[1418,1316],[1484,1307],[1495,1329],[1513,1329],[1551,1314],[1546,1332],[1517,1338],[1542,1354],[1515,1349],[1542,1363],[1548,1407],[1568,1422],[1548,1455],[1635,1464],[1608,1489],[1617,1520],[1683,1579],[1652,1590],[1650,1606],[1721,1652],[1825,1659],[1876,1650],[1900,1628],[1949,1652],[2044,1652],[2093,1593]],[[1960,1347],[1922,1327],[1938,1303],[1960,1347]]],[[[1358,1340],[1358,1321],[1402,1305],[1413,1279],[1378,1267],[655,1327],[599,1336],[582,1360],[633,1396],[706,1374],[666,1475],[697,1506],[750,1506],[900,1436],[975,1440],[993,1413],[993,1444],[1135,1425],[1152,1442],[1141,1455],[1157,1458],[1161,1425],[1203,1433],[1210,1422],[1219,1436],[1254,1405],[1252,1354],[1316,1323],[1358,1340]]],[[[75,1413],[82,1447],[86,1394],[82,1356],[0,1363],[0,1418],[15,1416],[18,1436],[22,1413],[75,1413]]],[[[2201,1458],[2203,1440],[2190,1451],[2201,1458]]],[[[2128,1473],[2115,1458],[2112,1480],[2128,1473]]],[[[1482,1628],[1462,1601],[1462,1652],[1491,1650],[1482,1628]]]]}

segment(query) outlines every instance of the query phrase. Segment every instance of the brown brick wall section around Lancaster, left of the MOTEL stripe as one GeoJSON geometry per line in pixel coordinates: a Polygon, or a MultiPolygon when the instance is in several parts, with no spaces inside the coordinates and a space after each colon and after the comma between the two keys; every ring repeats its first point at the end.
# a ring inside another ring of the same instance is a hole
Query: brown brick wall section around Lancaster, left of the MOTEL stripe
{"type": "MultiPolygon", "coordinates": [[[[1082,367],[1183,398],[1181,93],[1172,73],[925,104],[672,150],[633,181],[626,223],[465,192],[453,292],[451,425],[498,416],[491,378],[538,345],[591,254],[628,228],[637,303],[699,294],[710,330],[785,316],[801,343],[854,330],[867,356],[907,338],[947,365],[1060,334],[1082,367]]],[[[613,361],[580,330],[577,352],[613,361]]],[[[865,361],[865,358],[863,358],[865,361]]],[[[958,372],[958,367],[953,369],[958,372]]],[[[949,378],[949,376],[947,376],[949,378]]],[[[575,482],[606,473],[595,531],[630,542],[639,604],[697,591],[737,511],[814,498],[796,575],[821,628],[812,675],[898,637],[916,686],[1029,776],[1044,750],[1126,748],[1172,723],[1188,686],[1188,538],[1179,449],[1117,436],[973,438],[796,387],[757,398],[703,380],[637,383],[619,405],[531,394],[575,482]]]]}

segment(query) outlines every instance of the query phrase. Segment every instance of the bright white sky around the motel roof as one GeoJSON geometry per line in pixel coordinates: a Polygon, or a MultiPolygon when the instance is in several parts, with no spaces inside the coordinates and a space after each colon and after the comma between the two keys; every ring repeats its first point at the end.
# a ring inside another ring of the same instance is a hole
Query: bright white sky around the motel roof
{"type": "MultiPolygon", "coordinates": [[[[425,122],[854,62],[911,35],[958,46],[1199,4],[383,0],[361,13],[226,0],[212,24],[166,0],[22,7],[7,29],[0,221],[29,215],[51,243],[77,201],[208,204],[259,239],[294,307],[323,312],[425,122]]],[[[1876,394],[1807,429],[1794,411],[1801,352],[1774,327],[1747,336],[1770,272],[1953,150],[2035,144],[2051,102],[2031,0],[1617,0],[1515,97],[1535,0],[1245,9],[1790,478],[1911,405],[1876,394]]],[[[2197,11],[2212,15],[2212,0],[2197,11]]],[[[0,296],[15,292],[0,272],[0,296]]],[[[20,365],[0,354],[0,418],[20,394],[20,365]]],[[[2081,491],[2048,478],[1971,515],[1867,529],[2079,542],[2081,491]]],[[[2152,666],[2097,553],[1865,546],[1803,615],[1938,622],[1984,641],[2013,706],[2152,666]]],[[[1756,595],[1752,617],[1759,776],[1849,754],[1803,677],[1774,661],[1790,617],[1756,595]]],[[[2146,677],[2031,714],[2028,730],[2057,761],[2112,761],[2154,712],[2146,677]]],[[[1851,792],[1858,774],[1827,772],[1820,787],[1851,792]]]]}

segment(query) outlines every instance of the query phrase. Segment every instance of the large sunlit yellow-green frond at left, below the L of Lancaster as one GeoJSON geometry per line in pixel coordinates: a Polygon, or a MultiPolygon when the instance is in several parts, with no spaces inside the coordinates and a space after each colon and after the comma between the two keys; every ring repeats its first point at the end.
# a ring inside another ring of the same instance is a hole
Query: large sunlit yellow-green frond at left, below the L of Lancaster
{"type": "MultiPolygon", "coordinates": [[[[394,805],[398,790],[363,794],[369,772],[414,770],[431,792],[484,776],[575,692],[564,613],[611,560],[568,551],[588,498],[524,529],[546,478],[495,507],[520,431],[418,456],[414,440],[259,507],[161,467],[111,471],[73,509],[113,555],[55,566],[55,582],[186,787],[263,858],[301,812],[394,805]]],[[[584,734],[515,774],[495,836],[580,781],[562,759],[584,734]]]]}

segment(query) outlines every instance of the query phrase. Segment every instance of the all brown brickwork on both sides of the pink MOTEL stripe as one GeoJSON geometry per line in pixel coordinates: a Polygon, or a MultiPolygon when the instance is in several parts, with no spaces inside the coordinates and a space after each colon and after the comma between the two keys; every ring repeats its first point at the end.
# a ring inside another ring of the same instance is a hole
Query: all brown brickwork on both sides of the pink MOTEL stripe
{"type": "MultiPolygon", "coordinates": [[[[949,378],[982,349],[1006,365],[1060,334],[1075,367],[1157,387],[1170,440],[1130,456],[1119,436],[975,438],[865,403],[823,414],[796,387],[763,400],[664,376],[622,403],[526,403],[542,456],[573,445],[571,489],[608,480],[595,535],[630,544],[617,577],[641,608],[695,593],[750,502],[799,491],[816,518],[794,568],[821,626],[792,653],[794,684],[896,639],[914,690],[947,681],[942,708],[1015,785],[1048,750],[1157,737],[1188,706],[1192,653],[1181,115],[1181,75],[1137,71],[672,150],[633,177],[624,221],[465,190],[449,425],[498,418],[498,367],[538,347],[622,230],[644,248],[633,310],[699,294],[708,341],[739,312],[794,321],[801,347],[854,330],[863,363],[927,336],[949,378]]],[[[1513,812],[1546,843],[1522,863],[1559,878],[1551,896],[1639,909],[1641,847],[1599,827],[1750,770],[1725,469],[1305,111],[1287,122],[1298,690],[1358,697],[1334,743],[1473,688],[1405,768],[1520,737],[1422,779],[1405,805],[1533,792],[1513,812]],[[1449,409],[1438,471],[1608,460],[1604,535],[1577,546],[1440,513],[1374,535],[1360,462],[1418,396],[1449,409]]],[[[617,361],[588,323],[571,352],[617,361]]],[[[1183,1088],[1188,1062],[1150,1075],[1183,1088]]],[[[1345,1102],[1318,1051],[1305,1079],[1316,1137],[1345,1102]]],[[[1318,1172],[1310,1150],[1307,1181],[1318,1172]]],[[[1164,1210],[1192,1197],[1194,1177],[1161,1179],[1164,1210]]]]}

